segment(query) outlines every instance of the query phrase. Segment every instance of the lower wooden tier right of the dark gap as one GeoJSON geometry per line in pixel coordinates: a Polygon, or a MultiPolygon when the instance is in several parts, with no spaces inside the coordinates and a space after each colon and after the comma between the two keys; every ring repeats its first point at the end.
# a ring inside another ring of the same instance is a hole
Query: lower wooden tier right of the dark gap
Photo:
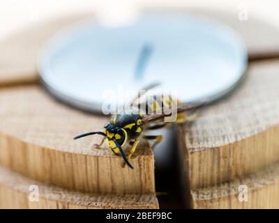
{"type": "Polygon", "coordinates": [[[279,162],[243,179],[191,190],[190,195],[191,208],[279,208],[279,162]]]}

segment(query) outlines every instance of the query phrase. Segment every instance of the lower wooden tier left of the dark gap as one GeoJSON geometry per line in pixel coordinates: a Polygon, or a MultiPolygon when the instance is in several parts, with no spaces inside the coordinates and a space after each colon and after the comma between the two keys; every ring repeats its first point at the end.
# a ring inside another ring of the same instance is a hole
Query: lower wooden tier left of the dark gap
{"type": "Polygon", "coordinates": [[[158,201],[154,194],[74,192],[31,180],[0,167],[0,208],[158,208],[158,201]],[[38,201],[35,200],[33,185],[38,188],[38,201]]]}

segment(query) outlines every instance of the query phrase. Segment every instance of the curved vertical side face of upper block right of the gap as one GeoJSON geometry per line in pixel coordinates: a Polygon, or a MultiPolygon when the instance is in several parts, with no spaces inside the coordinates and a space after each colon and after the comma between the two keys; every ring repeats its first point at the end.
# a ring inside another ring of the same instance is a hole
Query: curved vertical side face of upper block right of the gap
{"type": "Polygon", "coordinates": [[[241,178],[278,161],[278,132],[276,125],[232,144],[188,151],[190,188],[241,178]]]}

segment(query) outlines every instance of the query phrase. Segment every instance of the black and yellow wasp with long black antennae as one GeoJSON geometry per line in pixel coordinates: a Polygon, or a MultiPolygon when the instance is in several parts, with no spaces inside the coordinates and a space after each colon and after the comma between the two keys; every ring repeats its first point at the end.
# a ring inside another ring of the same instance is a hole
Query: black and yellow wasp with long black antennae
{"type": "MultiPolygon", "coordinates": [[[[149,91],[157,84],[151,84],[146,86],[145,91],[149,91]]],[[[153,149],[157,144],[162,141],[162,135],[146,135],[146,130],[155,130],[165,128],[171,124],[164,121],[164,118],[171,116],[173,113],[177,114],[175,123],[185,123],[191,118],[186,116],[186,112],[189,110],[197,109],[202,107],[204,102],[195,102],[190,104],[182,104],[177,102],[176,109],[174,107],[174,100],[171,95],[160,95],[153,97],[153,100],[141,99],[140,93],[137,97],[132,100],[128,106],[121,112],[117,112],[111,117],[109,123],[105,123],[102,131],[97,132],[86,132],[84,134],[77,135],[74,139],[80,139],[92,134],[100,134],[103,136],[100,144],[96,144],[96,148],[101,148],[105,140],[107,145],[115,155],[121,155],[123,157],[123,166],[125,164],[133,169],[132,164],[129,160],[135,153],[137,145],[140,139],[144,138],[147,140],[156,140],[151,148],[153,149]],[[167,111],[165,112],[165,107],[167,111]],[[124,153],[123,146],[130,146],[128,153],[124,153]]]]}

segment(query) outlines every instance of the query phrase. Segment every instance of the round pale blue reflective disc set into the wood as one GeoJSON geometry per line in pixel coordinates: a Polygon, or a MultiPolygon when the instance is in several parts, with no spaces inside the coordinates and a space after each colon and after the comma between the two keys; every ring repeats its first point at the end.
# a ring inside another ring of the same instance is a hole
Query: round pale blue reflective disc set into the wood
{"type": "Polygon", "coordinates": [[[204,17],[149,13],[133,24],[100,26],[86,21],[52,38],[38,70],[63,102],[101,112],[128,102],[153,82],[182,102],[216,100],[232,90],[247,66],[243,40],[204,17]],[[122,99],[119,99],[121,98],[122,99]]]}

